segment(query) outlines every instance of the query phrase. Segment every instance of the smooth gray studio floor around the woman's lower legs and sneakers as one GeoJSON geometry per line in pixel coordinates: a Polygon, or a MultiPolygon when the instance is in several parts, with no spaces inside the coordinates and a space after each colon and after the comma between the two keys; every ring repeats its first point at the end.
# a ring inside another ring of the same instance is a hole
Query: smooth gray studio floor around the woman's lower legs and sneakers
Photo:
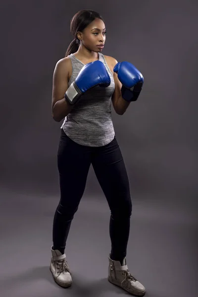
{"type": "MultiPolygon", "coordinates": [[[[58,196],[3,191],[0,197],[1,297],[130,296],[107,281],[110,211],[103,197],[83,197],[72,222],[65,251],[73,277],[68,289],[49,271],[58,196]]],[[[146,287],[145,296],[198,296],[197,236],[195,211],[133,202],[127,265],[146,287]]]]}

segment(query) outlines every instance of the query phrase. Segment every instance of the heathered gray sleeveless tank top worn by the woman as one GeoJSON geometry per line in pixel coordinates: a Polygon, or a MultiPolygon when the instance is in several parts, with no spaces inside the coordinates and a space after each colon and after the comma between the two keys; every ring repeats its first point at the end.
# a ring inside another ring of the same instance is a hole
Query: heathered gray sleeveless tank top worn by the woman
{"type": "MultiPolygon", "coordinates": [[[[73,54],[68,57],[72,62],[69,87],[85,64],[73,54]]],[[[115,136],[111,119],[111,96],[115,89],[114,79],[104,55],[100,52],[99,60],[104,64],[110,76],[110,85],[107,88],[96,86],[88,90],[65,117],[61,126],[61,129],[71,140],[88,147],[105,146],[115,136]]]]}

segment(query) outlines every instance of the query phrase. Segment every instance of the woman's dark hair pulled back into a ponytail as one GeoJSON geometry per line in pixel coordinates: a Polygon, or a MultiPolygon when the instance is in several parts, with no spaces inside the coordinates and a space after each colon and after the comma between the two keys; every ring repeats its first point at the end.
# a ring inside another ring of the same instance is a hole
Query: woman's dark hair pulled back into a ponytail
{"type": "Polygon", "coordinates": [[[70,43],[69,47],[66,50],[65,57],[71,53],[74,53],[78,50],[80,45],[80,40],[77,38],[77,32],[82,32],[91,22],[96,18],[103,20],[101,15],[98,12],[90,9],[79,10],[71,19],[70,31],[74,36],[74,40],[70,43]]]}

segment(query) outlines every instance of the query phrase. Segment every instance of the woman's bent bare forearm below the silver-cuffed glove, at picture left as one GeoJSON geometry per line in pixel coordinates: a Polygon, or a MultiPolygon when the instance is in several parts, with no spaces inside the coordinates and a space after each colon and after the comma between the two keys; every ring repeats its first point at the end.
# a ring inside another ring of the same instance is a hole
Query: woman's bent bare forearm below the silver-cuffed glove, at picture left
{"type": "Polygon", "coordinates": [[[54,121],[60,122],[65,116],[70,113],[74,105],[70,105],[65,98],[58,100],[52,109],[52,117],[54,121]]]}

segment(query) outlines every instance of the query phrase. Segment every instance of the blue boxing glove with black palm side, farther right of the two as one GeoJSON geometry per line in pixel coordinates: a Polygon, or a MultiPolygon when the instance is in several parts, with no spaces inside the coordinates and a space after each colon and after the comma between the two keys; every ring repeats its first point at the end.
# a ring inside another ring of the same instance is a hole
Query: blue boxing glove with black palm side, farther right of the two
{"type": "Polygon", "coordinates": [[[122,83],[122,98],[126,101],[136,101],[144,84],[142,73],[129,62],[118,62],[113,71],[117,73],[118,79],[122,83]]]}

